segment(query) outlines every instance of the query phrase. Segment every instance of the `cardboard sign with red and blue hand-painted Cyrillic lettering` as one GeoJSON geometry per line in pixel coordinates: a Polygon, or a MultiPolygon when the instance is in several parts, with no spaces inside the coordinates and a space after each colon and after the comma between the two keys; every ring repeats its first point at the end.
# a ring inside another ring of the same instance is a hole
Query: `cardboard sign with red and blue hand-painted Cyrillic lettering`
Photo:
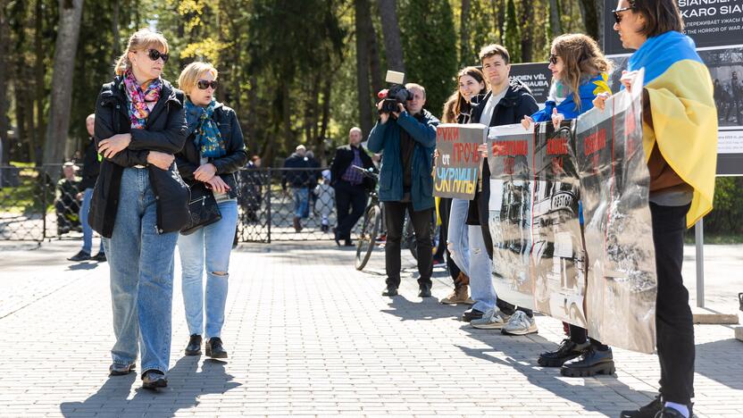
{"type": "Polygon", "coordinates": [[[482,163],[478,146],[485,143],[487,133],[488,127],[480,123],[438,125],[434,196],[472,200],[482,163]]]}

